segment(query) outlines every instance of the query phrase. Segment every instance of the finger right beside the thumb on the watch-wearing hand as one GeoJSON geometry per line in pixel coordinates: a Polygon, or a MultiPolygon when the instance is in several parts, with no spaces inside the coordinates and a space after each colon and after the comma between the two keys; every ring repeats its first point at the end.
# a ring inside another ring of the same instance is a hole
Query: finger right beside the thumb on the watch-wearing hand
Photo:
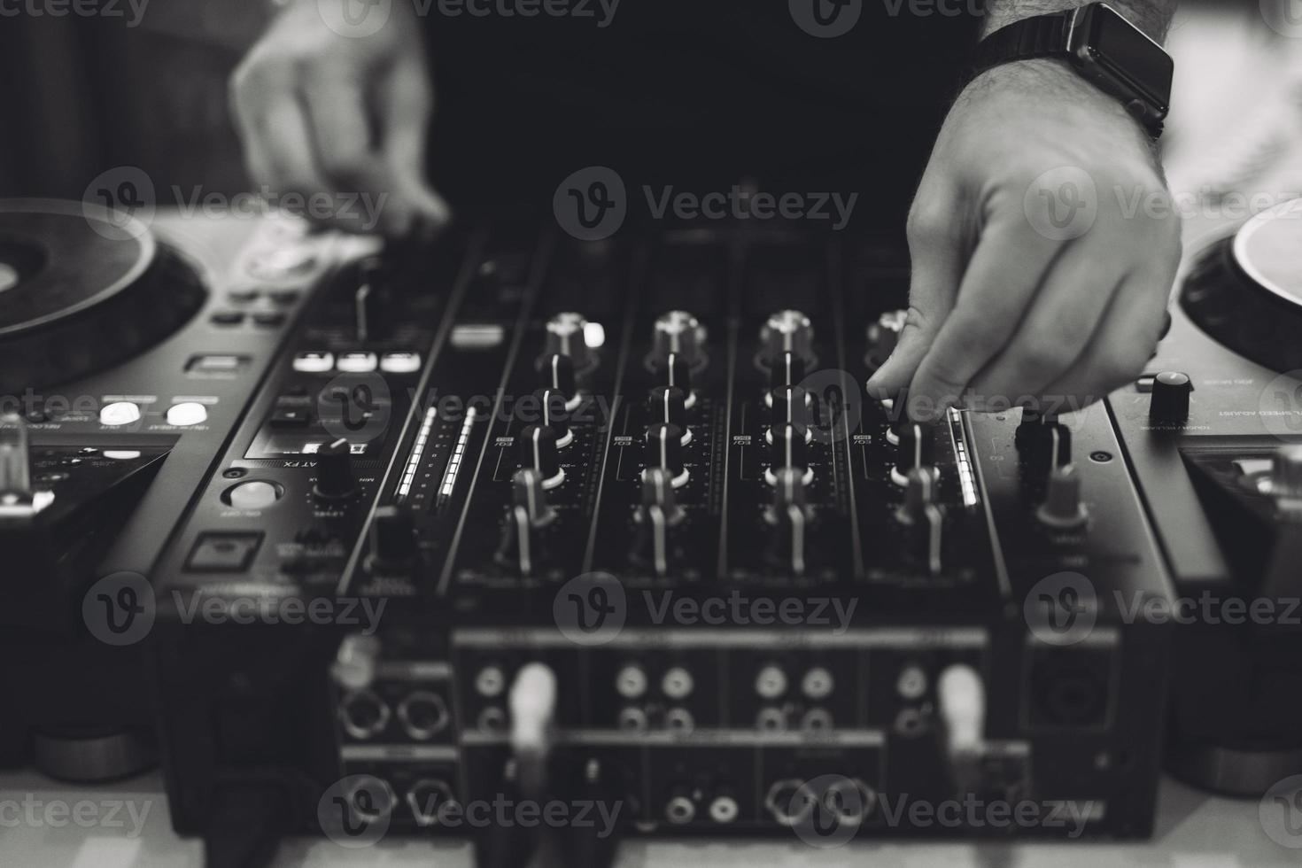
{"type": "Polygon", "coordinates": [[[1001,216],[982,233],[954,310],[909,385],[910,418],[935,419],[961,401],[978,371],[1008,344],[1062,251],[1021,216],[1001,216]]]}

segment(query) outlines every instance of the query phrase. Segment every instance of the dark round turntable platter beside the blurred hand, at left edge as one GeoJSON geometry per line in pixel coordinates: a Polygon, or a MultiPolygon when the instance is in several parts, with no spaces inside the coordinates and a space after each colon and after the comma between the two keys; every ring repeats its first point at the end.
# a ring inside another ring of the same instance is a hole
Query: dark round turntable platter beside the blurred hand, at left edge
{"type": "Polygon", "coordinates": [[[130,219],[0,202],[0,392],[92,373],[158,344],[206,298],[195,271],[130,219]]]}

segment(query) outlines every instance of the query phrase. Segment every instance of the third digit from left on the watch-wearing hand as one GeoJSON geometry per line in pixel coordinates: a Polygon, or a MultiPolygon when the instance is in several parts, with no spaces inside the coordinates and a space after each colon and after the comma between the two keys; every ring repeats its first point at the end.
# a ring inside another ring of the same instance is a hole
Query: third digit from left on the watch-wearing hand
{"type": "Polygon", "coordinates": [[[1047,397],[1086,351],[1122,280],[1116,258],[1073,245],[1055,260],[1008,345],[967,384],[974,410],[1005,410],[1047,397]]]}

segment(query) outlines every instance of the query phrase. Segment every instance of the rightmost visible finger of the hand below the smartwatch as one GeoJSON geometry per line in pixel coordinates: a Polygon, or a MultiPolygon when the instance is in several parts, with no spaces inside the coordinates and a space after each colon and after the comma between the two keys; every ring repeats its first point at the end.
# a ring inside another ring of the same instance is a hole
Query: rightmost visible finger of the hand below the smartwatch
{"type": "Polygon", "coordinates": [[[1173,275],[1143,268],[1113,295],[1096,337],[1061,377],[1046,387],[1066,407],[1083,407],[1139,376],[1161,334],[1173,275]]]}

